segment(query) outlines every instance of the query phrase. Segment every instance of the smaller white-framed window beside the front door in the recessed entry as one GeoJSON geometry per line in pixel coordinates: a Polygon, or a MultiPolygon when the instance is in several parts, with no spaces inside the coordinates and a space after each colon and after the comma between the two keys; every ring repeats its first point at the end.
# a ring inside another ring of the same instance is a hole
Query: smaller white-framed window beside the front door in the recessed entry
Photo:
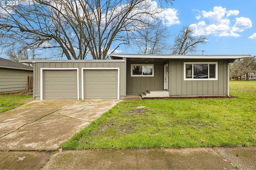
{"type": "Polygon", "coordinates": [[[154,64],[131,64],[131,76],[154,76],[154,64]]]}

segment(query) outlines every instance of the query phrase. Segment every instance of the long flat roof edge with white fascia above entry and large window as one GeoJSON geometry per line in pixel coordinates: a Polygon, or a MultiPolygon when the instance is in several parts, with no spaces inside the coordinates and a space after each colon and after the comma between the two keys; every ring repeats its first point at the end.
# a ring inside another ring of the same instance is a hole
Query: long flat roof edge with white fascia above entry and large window
{"type": "Polygon", "coordinates": [[[143,55],[143,54],[110,54],[112,59],[146,58],[146,59],[242,59],[250,55],[143,55]]]}

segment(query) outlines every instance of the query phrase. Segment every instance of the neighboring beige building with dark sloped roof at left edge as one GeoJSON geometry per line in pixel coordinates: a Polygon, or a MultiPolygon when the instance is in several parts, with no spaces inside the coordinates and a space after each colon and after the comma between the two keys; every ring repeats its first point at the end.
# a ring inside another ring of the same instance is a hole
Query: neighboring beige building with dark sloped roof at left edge
{"type": "Polygon", "coordinates": [[[0,58],[0,93],[26,90],[33,76],[33,67],[0,58]]]}

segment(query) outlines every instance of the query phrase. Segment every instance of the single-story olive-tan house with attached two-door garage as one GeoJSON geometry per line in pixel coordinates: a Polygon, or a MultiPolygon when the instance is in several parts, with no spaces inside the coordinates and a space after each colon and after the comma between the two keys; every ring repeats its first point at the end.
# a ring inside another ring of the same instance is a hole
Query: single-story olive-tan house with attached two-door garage
{"type": "Polygon", "coordinates": [[[250,56],[111,54],[110,57],[111,60],[21,62],[34,64],[36,100],[125,99],[127,95],[139,94],[228,96],[229,63],[250,56]]]}

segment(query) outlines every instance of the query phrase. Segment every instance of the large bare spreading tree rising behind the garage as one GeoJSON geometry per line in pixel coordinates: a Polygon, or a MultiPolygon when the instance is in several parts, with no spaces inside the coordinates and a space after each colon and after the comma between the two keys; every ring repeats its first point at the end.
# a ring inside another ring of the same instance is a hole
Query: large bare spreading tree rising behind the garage
{"type": "MultiPolygon", "coordinates": [[[[162,1],[160,1],[162,2],[162,1]]],[[[165,0],[172,3],[172,0],[165,0]]],[[[106,59],[161,12],[149,0],[20,0],[0,6],[0,46],[48,49],[67,59],[106,59]],[[116,47],[116,48],[117,48],[116,47]],[[116,50],[116,49],[114,49],[116,50]]]]}

